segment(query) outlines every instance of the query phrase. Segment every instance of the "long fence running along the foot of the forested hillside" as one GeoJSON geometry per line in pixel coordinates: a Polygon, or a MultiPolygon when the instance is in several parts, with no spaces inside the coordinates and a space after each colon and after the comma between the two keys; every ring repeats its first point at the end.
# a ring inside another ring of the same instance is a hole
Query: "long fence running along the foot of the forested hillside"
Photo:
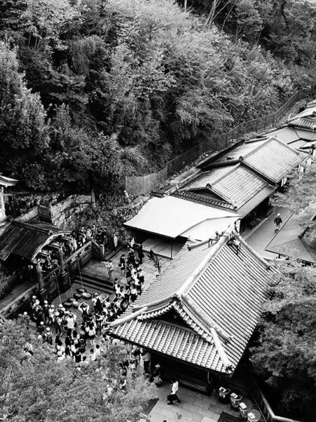
{"type": "Polygon", "coordinates": [[[183,167],[192,164],[192,162],[197,160],[202,154],[227,148],[230,145],[230,141],[239,139],[240,136],[249,132],[263,131],[273,127],[281,117],[284,117],[294,104],[302,98],[309,98],[315,94],[316,85],[311,89],[301,89],[291,96],[291,98],[272,115],[265,115],[264,117],[238,124],[237,127],[234,127],[234,129],[231,129],[229,132],[212,136],[211,139],[199,143],[199,145],[190,148],[190,150],[167,162],[166,167],[160,170],[160,172],[147,174],[147,176],[126,177],[126,191],[133,195],[152,191],[160,183],[163,183],[173,174],[182,170],[183,167]]]}

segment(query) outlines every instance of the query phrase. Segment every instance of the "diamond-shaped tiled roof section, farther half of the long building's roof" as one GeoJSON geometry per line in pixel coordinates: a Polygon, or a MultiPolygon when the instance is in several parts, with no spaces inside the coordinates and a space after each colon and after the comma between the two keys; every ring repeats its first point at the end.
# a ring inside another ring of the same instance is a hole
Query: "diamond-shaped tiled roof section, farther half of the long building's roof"
{"type": "Polygon", "coordinates": [[[287,176],[300,162],[301,158],[294,148],[274,137],[244,157],[246,165],[275,183],[287,176]]]}

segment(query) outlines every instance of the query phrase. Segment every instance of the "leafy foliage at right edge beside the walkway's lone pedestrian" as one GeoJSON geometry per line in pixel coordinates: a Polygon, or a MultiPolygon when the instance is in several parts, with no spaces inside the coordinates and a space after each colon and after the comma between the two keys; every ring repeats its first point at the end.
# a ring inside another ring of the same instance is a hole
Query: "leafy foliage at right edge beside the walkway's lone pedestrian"
{"type": "Polygon", "coordinates": [[[316,248],[316,168],[307,167],[305,172],[292,172],[289,176],[289,189],[278,193],[275,203],[279,206],[288,207],[293,211],[298,222],[308,228],[304,238],[312,248],[316,248]]]}

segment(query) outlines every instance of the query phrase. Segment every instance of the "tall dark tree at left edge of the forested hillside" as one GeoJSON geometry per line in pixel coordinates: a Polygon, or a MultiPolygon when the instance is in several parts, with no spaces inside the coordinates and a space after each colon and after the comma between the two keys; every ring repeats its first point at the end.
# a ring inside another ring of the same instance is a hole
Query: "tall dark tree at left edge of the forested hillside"
{"type": "Polygon", "coordinates": [[[46,112],[27,89],[16,51],[0,41],[0,133],[2,169],[21,174],[22,165],[48,148],[46,112]]]}

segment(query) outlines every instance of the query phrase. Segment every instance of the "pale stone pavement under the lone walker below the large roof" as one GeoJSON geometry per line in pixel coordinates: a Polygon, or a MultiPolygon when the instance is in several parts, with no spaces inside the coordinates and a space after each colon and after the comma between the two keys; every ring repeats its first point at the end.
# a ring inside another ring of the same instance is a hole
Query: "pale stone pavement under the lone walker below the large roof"
{"type": "Polygon", "coordinates": [[[238,416],[230,410],[229,404],[220,403],[214,392],[210,397],[180,386],[178,397],[181,402],[172,405],[167,404],[169,394],[168,383],[157,388],[159,400],[150,411],[151,422],[217,422],[223,411],[238,416]]]}

